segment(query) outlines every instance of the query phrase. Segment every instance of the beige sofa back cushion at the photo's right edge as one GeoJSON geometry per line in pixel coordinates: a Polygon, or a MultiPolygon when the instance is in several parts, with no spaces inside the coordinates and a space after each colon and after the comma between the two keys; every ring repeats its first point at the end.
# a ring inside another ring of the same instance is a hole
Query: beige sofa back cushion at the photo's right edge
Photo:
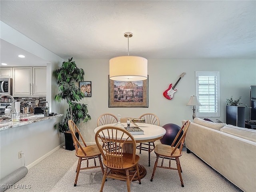
{"type": "Polygon", "coordinates": [[[220,131],[256,142],[256,130],[254,129],[242,128],[234,125],[227,125],[222,127],[220,131]]]}

